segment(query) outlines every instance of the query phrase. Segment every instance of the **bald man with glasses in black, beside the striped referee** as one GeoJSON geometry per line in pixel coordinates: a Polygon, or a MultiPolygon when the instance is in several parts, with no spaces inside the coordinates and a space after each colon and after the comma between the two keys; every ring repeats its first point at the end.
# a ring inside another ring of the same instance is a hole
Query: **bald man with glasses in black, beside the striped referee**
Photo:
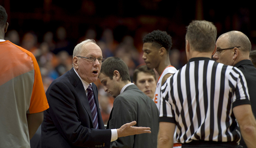
{"type": "MultiPolygon", "coordinates": [[[[225,65],[232,65],[241,70],[246,78],[252,112],[256,117],[256,68],[249,58],[252,48],[248,37],[240,31],[230,31],[222,34],[216,41],[217,50],[213,58],[225,65]]],[[[247,148],[242,139],[240,145],[247,148]]]]}

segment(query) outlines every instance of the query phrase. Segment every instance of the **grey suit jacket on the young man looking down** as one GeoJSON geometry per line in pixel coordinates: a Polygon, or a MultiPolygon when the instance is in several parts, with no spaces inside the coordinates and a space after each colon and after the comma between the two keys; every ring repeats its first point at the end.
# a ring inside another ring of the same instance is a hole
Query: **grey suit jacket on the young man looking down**
{"type": "Polygon", "coordinates": [[[159,130],[159,111],[154,101],[130,85],[114,100],[107,128],[120,128],[123,124],[136,121],[135,126],[151,128],[150,134],[121,137],[111,142],[111,148],[156,148],[159,130]]]}

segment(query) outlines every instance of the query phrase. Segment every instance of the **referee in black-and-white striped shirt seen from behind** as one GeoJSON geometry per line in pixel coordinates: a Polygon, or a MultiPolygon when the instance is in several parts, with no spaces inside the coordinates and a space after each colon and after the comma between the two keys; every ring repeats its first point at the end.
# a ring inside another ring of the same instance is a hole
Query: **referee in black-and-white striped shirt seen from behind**
{"type": "Polygon", "coordinates": [[[161,87],[158,148],[172,147],[176,125],[182,148],[239,148],[241,134],[255,148],[256,120],[244,75],[211,60],[216,32],[207,21],[187,27],[188,63],[161,87]]]}

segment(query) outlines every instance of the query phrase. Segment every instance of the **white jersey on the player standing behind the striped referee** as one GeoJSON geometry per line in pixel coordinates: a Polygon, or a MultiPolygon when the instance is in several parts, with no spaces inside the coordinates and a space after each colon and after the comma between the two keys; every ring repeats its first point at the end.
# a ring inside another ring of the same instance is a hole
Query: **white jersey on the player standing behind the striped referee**
{"type": "MultiPolygon", "coordinates": [[[[172,65],[167,66],[164,70],[163,73],[160,75],[157,81],[156,89],[154,92],[154,103],[156,104],[158,110],[160,109],[160,92],[161,92],[161,86],[162,86],[162,80],[165,74],[174,74],[177,71],[175,67],[172,65]]],[[[176,146],[177,140],[176,140],[176,129],[173,137],[173,148],[181,148],[181,146],[176,146]]]]}

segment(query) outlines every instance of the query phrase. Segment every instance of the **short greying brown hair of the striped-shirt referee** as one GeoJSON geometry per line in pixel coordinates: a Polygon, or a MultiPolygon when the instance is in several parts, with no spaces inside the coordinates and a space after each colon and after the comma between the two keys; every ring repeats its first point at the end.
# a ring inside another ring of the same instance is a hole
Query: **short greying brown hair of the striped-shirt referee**
{"type": "Polygon", "coordinates": [[[194,20],[187,26],[185,39],[199,52],[211,52],[215,48],[216,26],[212,22],[194,20]]]}

